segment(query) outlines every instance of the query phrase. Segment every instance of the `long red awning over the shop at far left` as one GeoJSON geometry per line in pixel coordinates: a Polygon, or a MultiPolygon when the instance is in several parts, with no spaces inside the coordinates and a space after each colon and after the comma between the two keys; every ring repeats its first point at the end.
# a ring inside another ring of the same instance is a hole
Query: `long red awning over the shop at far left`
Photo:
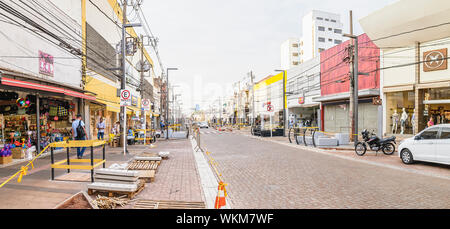
{"type": "Polygon", "coordinates": [[[1,84],[13,86],[13,87],[30,88],[30,89],[41,90],[41,91],[61,93],[64,95],[87,99],[87,100],[95,100],[95,96],[85,95],[83,93],[68,90],[65,88],[53,87],[53,86],[31,83],[31,82],[26,82],[26,81],[20,81],[20,80],[10,79],[10,78],[6,78],[6,77],[2,77],[1,84]]]}

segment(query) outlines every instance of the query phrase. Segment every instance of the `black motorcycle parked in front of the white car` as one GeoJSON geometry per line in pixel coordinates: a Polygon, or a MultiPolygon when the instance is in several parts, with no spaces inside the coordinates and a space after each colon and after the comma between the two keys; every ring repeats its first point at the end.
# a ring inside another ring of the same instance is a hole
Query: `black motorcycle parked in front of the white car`
{"type": "Polygon", "coordinates": [[[367,151],[367,146],[370,147],[370,150],[383,151],[386,155],[392,155],[395,152],[395,136],[390,138],[380,139],[376,136],[376,134],[369,133],[368,130],[363,130],[361,133],[364,139],[364,142],[358,142],[355,146],[355,152],[358,156],[363,156],[367,151]]]}

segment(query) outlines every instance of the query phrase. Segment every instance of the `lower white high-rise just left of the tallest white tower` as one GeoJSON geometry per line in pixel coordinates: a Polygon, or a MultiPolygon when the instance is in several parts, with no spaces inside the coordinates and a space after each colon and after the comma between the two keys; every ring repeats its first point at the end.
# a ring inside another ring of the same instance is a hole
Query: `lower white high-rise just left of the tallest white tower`
{"type": "Polygon", "coordinates": [[[300,39],[289,38],[281,44],[281,68],[290,69],[300,64],[300,39]]]}

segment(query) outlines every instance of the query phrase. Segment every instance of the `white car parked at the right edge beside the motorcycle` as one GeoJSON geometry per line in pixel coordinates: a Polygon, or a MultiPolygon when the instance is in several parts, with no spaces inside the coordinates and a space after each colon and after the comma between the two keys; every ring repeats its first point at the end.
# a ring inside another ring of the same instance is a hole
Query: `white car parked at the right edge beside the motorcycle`
{"type": "Polygon", "coordinates": [[[403,140],[398,152],[405,164],[426,161],[450,165],[450,124],[429,127],[403,140]]]}

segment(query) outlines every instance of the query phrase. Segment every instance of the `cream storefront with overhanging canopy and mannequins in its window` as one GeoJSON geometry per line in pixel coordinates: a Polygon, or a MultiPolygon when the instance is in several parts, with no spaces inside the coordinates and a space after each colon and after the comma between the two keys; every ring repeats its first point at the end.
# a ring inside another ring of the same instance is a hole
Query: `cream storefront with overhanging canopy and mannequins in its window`
{"type": "Polygon", "coordinates": [[[402,134],[403,129],[403,137],[410,137],[425,129],[430,120],[430,124],[440,124],[450,118],[450,25],[442,17],[448,15],[450,2],[439,1],[440,7],[430,7],[436,3],[414,1],[411,8],[410,1],[400,0],[360,20],[374,43],[384,47],[381,81],[385,134],[402,134]],[[384,39],[377,39],[380,37],[384,39]]]}

